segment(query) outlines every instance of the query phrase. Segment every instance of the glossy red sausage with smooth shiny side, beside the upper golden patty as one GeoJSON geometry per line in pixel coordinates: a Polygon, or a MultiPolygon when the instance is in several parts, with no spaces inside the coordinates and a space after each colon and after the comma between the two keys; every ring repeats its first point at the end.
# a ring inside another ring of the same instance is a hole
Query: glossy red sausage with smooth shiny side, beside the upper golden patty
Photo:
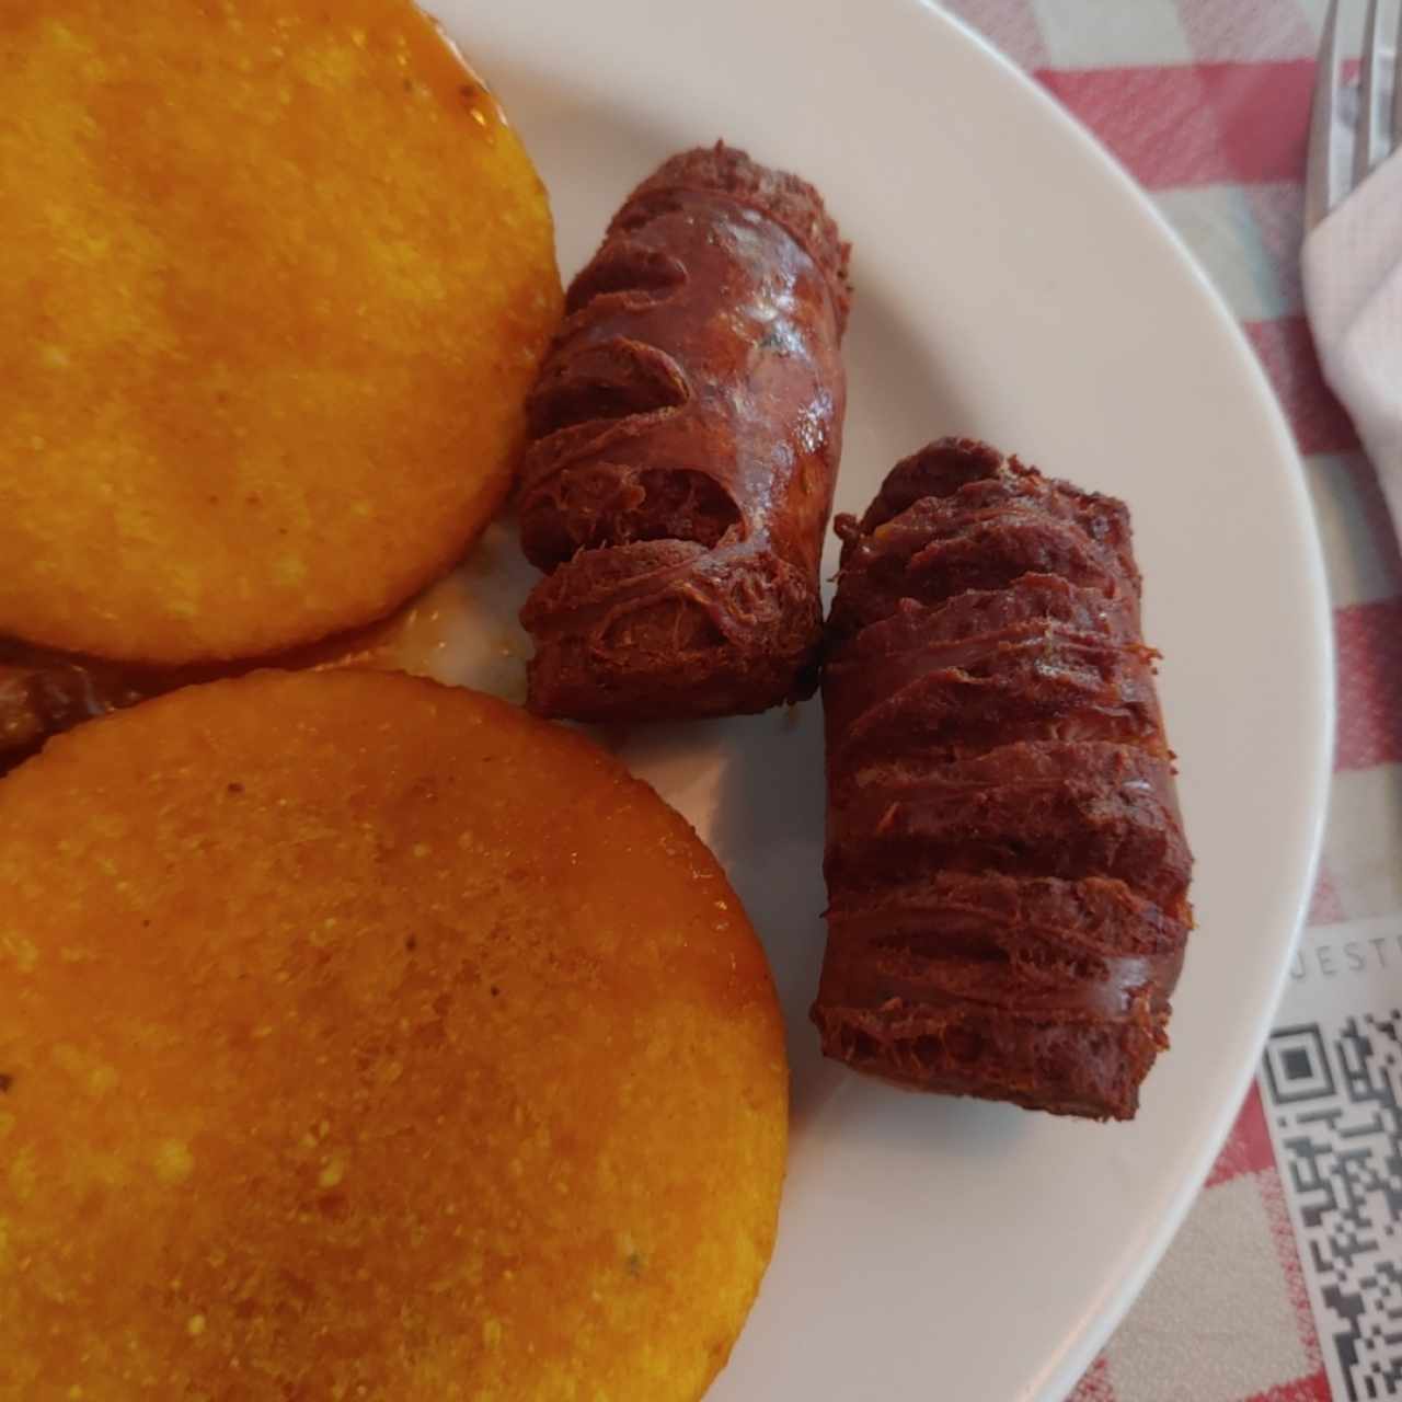
{"type": "Polygon", "coordinates": [[[847,245],[806,182],[718,144],[627,199],[529,405],[531,709],[763,711],[812,693],[841,451],[847,245]]]}

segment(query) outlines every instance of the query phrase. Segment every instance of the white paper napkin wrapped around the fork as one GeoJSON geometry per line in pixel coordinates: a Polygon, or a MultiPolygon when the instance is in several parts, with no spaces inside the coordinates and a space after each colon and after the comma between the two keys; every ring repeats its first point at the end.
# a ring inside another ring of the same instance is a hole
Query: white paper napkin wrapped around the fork
{"type": "Polygon", "coordinates": [[[1323,377],[1402,531],[1402,151],[1305,238],[1304,286],[1323,377]]]}

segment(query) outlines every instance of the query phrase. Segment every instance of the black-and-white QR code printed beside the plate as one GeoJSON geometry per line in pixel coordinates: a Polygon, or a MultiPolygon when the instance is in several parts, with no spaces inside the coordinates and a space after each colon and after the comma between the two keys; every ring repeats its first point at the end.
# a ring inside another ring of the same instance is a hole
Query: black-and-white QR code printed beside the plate
{"type": "Polygon", "coordinates": [[[1321,1342],[1350,1402],[1402,1398],[1402,1012],[1280,1028],[1265,1071],[1321,1342]]]}

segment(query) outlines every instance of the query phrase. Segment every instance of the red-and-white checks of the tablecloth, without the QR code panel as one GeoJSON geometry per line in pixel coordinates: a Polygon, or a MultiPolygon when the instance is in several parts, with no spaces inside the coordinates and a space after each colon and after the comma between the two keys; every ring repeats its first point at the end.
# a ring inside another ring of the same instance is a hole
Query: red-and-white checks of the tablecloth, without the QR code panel
{"type": "MultiPolygon", "coordinates": [[[[1311,924],[1402,910],[1402,557],[1325,388],[1300,297],[1302,174],[1326,0],[946,0],[1150,192],[1242,322],[1305,458],[1339,735],[1311,924]]],[[[1260,1098],[1073,1402],[1329,1402],[1260,1098]]]]}

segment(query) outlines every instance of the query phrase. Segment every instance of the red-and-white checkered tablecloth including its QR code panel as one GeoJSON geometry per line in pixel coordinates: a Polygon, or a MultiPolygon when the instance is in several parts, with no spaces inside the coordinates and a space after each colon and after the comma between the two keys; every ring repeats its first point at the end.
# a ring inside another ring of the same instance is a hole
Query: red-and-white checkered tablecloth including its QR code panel
{"type": "Polygon", "coordinates": [[[1074,1402],[1402,1396],[1402,558],[1301,306],[1326,0],[948,7],[1126,165],[1239,318],[1304,456],[1338,641],[1323,865],[1262,1074],[1074,1402]]]}

